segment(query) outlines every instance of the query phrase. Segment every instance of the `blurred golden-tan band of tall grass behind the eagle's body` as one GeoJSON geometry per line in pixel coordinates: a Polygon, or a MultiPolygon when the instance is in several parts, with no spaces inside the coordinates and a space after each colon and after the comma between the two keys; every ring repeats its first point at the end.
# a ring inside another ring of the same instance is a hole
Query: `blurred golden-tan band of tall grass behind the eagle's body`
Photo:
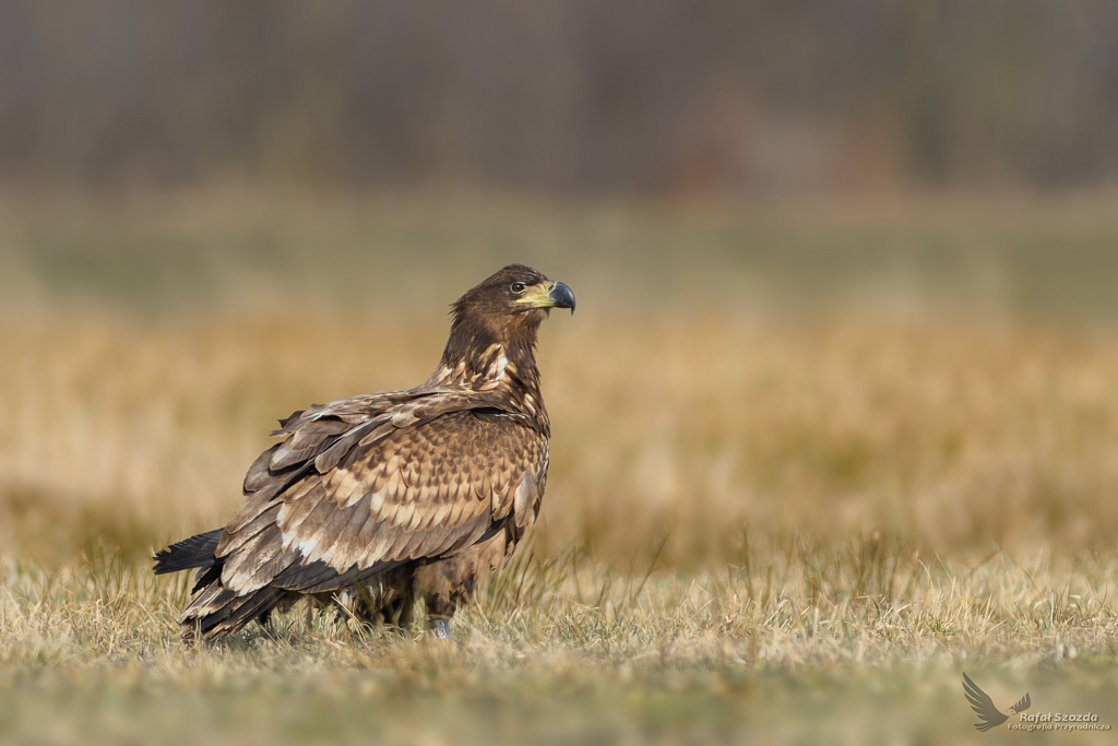
{"type": "MultiPolygon", "coordinates": [[[[218,525],[273,419],[421,380],[444,327],[0,331],[7,539],[49,559],[107,531],[142,554],[218,525]]],[[[576,317],[549,322],[542,348],[556,424],[538,530],[548,554],[575,542],[623,561],[666,536],[661,567],[695,569],[736,561],[747,533],[827,546],[882,531],[925,556],[1101,550],[1118,533],[1110,334],[576,317]]]]}

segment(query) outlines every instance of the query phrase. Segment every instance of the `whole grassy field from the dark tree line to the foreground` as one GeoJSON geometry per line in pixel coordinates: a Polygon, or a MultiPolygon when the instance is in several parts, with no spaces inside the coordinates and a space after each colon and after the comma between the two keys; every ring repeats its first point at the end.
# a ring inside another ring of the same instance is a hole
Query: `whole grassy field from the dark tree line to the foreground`
{"type": "Polygon", "coordinates": [[[1110,204],[0,200],[0,740],[1108,738],[978,734],[959,679],[1118,726],[1110,204]],[[182,648],[152,549],[518,259],[579,299],[551,476],[453,641],[182,648]]]}

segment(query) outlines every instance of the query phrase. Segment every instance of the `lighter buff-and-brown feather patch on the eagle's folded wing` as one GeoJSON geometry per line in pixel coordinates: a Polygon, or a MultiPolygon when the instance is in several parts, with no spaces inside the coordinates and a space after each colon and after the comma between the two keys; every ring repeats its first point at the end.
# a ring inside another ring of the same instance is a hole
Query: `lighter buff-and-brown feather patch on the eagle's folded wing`
{"type": "Polygon", "coordinates": [[[334,488],[314,509],[329,519],[303,518],[306,498],[296,493],[284,497],[277,525],[307,560],[322,559],[340,573],[353,564],[428,557],[446,551],[448,539],[453,550],[513,509],[510,493],[525,472],[534,498],[544,448],[539,433],[519,424],[468,412],[444,415],[358,446],[319,478],[334,488]],[[367,516],[363,523],[359,516],[367,516]],[[354,546],[354,535],[370,538],[354,546]]]}

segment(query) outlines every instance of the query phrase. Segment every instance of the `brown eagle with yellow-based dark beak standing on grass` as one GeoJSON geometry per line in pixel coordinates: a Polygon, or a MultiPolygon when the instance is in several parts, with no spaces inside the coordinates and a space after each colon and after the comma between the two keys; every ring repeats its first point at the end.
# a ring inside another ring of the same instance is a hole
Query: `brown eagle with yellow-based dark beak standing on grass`
{"type": "Polygon", "coordinates": [[[536,342],[561,282],[513,264],[452,305],[438,367],[415,388],[313,405],[280,421],[225,528],[153,557],[198,570],[188,642],[237,632],[301,597],[406,626],[414,594],[440,638],[479,577],[539,514],[551,426],[536,342]]]}

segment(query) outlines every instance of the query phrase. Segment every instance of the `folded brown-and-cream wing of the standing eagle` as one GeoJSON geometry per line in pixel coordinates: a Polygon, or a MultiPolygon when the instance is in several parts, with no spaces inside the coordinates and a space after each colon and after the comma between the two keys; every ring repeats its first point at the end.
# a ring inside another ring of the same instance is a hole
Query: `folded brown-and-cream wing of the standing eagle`
{"type": "Polygon", "coordinates": [[[330,591],[534,519],[547,438],[496,395],[356,397],[296,413],[245,479],[221,585],[330,591]]]}

